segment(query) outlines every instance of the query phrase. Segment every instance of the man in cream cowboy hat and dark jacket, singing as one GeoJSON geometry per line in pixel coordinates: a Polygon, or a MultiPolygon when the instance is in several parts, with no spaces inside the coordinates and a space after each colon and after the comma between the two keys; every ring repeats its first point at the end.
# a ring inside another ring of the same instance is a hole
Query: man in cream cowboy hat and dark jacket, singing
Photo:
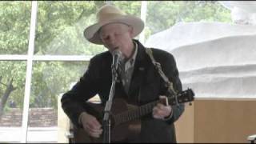
{"type": "MultiPolygon", "coordinates": [[[[108,51],[91,58],[90,65],[80,81],[62,97],[62,108],[74,126],[82,127],[94,138],[102,135],[102,122],[86,109],[86,101],[98,94],[105,104],[110,94],[112,82],[112,52],[122,52],[121,65],[114,99],[123,98],[127,103],[142,106],[166,95],[167,87],[156,70],[146,48],[133,39],[144,28],[140,18],[122,14],[110,5],[102,6],[97,14],[98,22],[88,26],[85,38],[94,44],[104,45],[108,51]]],[[[156,62],[173,83],[174,90],[182,91],[174,57],[163,51],[151,49],[156,62]]],[[[111,110],[118,108],[112,107],[111,110]]],[[[176,142],[174,122],[184,111],[184,105],[166,106],[158,103],[151,114],[141,118],[140,133],[137,138],[126,138],[122,142],[176,142]]]]}

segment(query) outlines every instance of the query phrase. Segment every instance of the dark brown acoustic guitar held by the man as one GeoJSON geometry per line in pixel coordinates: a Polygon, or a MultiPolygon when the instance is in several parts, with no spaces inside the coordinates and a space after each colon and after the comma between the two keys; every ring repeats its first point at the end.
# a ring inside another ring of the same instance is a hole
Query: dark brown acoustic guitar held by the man
{"type": "MultiPolygon", "coordinates": [[[[111,122],[111,141],[118,142],[124,139],[136,138],[141,130],[141,118],[147,114],[151,114],[154,106],[159,102],[164,105],[177,105],[179,103],[194,101],[194,92],[191,89],[187,89],[177,94],[177,96],[165,99],[159,99],[154,102],[147,103],[142,106],[135,106],[127,103],[122,98],[115,98],[111,107],[110,122],[111,122]]],[[[102,122],[105,106],[102,103],[87,102],[86,111],[89,114],[94,115],[98,122],[102,122]]],[[[92,138],[86,134],[84,130],[80,130],[80,135],[75,140],[76,142],[82,141],[82,139],[90,142],[102,142],[102,136],[100,138],[92,138]],[[81,132],[82,131],[82,132],[81,132]]],[[[77,133],[74,134],[79,134],[77,133]]],[[[103,135],[103,133],[101,134],[103,135]]]]}

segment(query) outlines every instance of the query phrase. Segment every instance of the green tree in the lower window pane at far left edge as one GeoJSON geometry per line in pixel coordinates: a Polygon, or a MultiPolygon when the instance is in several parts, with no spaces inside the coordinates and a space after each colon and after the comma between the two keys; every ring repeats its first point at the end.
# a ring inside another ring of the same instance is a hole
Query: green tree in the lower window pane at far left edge
{"type": "Polygon", "coordinates": [[[26,63],[0,61],[0,67],[1,115],[2,110],[8,110],[10,102],[14,102],[18,108],[23,106],[26,63]]]}

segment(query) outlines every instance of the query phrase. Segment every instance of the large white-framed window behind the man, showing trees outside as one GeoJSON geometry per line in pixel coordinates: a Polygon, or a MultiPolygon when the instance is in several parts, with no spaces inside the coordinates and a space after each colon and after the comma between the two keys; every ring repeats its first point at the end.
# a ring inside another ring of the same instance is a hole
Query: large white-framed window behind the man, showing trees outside
{"type": "MultiPolygon", "coordinates": [[[[0,142],[58,142],[58,98],[106,50],[83,37],[105,3],[0,2],[0,142]]],[[[218,2],[108,3],[146,15],[146,39],[176,22],[230,22],[218,2]]]]}

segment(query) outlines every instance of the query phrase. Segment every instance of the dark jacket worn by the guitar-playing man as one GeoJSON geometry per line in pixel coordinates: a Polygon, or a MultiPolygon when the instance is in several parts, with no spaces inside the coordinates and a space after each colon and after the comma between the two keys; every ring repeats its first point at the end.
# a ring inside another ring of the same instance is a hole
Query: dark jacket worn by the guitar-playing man
{"type": "MultiPolygon", "coordinates": [[[[139,106],[158,100],[159,95],[166,94],[164,81],[158,74],[150,57],[146,54],[145,47],[138,43],[138,54],[134,64],[134,74],[130,82],[130,89],[126,94],[122,82],[116,84],[114,98],[122,95],[127,102],[136,103],[139,106]]],[[[161,63],[162,71],[174,84],[174,89],[182,91],[182,83],[178,78],[176,62],[172,54],[163,50],[152,49],[154,58],[161,63]]],[[[112,55],[109,51],[97,54],[91,58],[86,73],[80,81],[62,96],[62,108],[75,126],[78,124],[78,116],[84,109],[85,102],[98,94],[102,102],[108,100],[111,86],[112,55]]],[[[172,106],[174,116],[168,121],[152,118],[150,114],[142,118],[142,131],[140,142],[176,142],[174,122],[184,111],[184,105],[172,106]]]]}

